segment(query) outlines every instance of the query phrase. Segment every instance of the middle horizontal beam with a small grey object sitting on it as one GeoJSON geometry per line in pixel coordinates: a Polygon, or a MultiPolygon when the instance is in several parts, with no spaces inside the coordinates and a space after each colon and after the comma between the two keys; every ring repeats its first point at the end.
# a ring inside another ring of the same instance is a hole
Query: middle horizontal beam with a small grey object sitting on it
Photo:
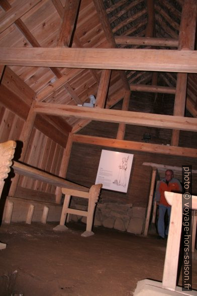
{"type": "Polygon", "coordinates": [[[103,108],[89,108],[62,104],[35,104],[35,112],[56,116],[76,117],[96,121],[118,122],[142,126],[154,126],[197,131],[197,119],[182,116],[150,114],[103,108]]]}

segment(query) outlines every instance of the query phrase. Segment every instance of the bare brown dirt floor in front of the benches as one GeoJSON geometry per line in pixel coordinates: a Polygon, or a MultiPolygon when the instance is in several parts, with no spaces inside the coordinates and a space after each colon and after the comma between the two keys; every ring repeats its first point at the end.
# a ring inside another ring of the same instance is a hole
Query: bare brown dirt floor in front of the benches
{"type": "MultiPolygon", "coordinates": [[[[130,296],[139,280],[162,281],[166,240],[102,227],[83,238],[85,225],[70,223],[63,233],[53,231],[56,225],[1,226],[8,244],[0,251],[1,296],[130,296]]],[[[197,289],[197,260],[192,267],[197,289]]]]}

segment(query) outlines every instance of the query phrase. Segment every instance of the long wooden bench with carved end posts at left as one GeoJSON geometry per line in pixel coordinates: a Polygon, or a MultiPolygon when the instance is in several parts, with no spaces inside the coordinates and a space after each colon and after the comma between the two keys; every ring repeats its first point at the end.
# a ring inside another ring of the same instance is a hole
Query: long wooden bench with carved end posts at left
{"type": "MultiPolygon", "coordinates": [[[[67,213],[75,213],[78,215],[84,215],[87,217],[87,227],[86,232],[82,234],[82,236],[90,236],[93,235],[91,232],[92,228],[92,221],[93,221],[93,214],[95,209],[95,204],[99,199],[100,190],[102,188],[102,184],[92,185],[91,188],[87,188],[81,185],[74,184],[69,182],[63,178],[58,176],[54,176],[52,174],[43,172],[31,166],[13,161],[15,153],[16,142],[15,141],[7,141],[5,143],[0,143],[0,194],[2,194],[2,190],[4,187],[4,179],[8,177],[8,173],[10,172],[10,167],[12,166],[15,173],[20,175],[28,176],[30,178],[40,180],[43,182],[47,182],[51,185],[58,186],[62,188],[63,194],[65,194],[65,200],[62,208],[62,214],[60,219],[60,225],[55,228],[55,230],[59,230],[59,228],[63,228],[65,219],[64,216],[67,213]],[[71,195],[84,197],[88,199],[88,210],[87,211],[80,211],[76,209],[70,209],[68,207],[71,195]],[[64,221],[64,222],[63,222],[64,221]]],[[[14,203],[8,202],[7,211],[5,214],[5,220],[7,223],[11,223],[12,212],[13,212],[14,203]]],[[[34,212],[34,205],[30,204],[26,223],[31,224],[32,216],[34,212]]],[[[48,207],[45,205],[43,208],[43,215],[41,218],[42,223],[46,223],[48,214],[48,207]]],[[[64,227],[64,229],[67,229],[64,227]]],[[[0,245],[0,248],[4,248],[3,244],[0,245]]]]}

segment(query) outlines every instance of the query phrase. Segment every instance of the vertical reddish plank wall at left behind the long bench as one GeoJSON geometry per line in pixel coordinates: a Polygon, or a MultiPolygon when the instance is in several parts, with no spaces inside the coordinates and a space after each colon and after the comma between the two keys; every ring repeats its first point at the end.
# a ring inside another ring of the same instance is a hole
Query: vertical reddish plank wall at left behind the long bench
{"type": "MultiPolygon", "coordinates": [[[[3,107],[1,104],[0,114],[0,142],[5,142],[7,140],[18,141],[24,120],[11,112],[9,109],[3,107]]],[[[19,149],[19,142],[17,144],[17,148],[19,149]]],[[[16,152],[16,154],[19,156],[20,151],[18,151],[18,153],[16,152]]],[[[26,164],[51,174],[58,175],[62,155],[63,147],[61,145],[54,142],[38,129],[33,128],[30,143],[25,156],[26,164]]],[[[55,194],[56,189],[55,186],[25,176],[20,176],[19,186],[51,194],[55,194]]]]}

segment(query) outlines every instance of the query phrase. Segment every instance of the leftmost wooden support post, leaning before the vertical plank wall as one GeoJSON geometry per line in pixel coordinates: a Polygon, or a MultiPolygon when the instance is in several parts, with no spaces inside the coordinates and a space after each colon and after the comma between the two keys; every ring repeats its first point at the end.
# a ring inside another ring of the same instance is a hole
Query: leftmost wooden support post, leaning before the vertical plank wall
{"type": "MultiPolygon", "coordinates": [[[[22,129],[21,135],[20,135],[20,140],[23,142],[23,149],[22,149],[22,153],[21,153],[21,157],[20,157],[20,161],[22,161],[22,162],[25,159],[27,147],[29,144],[29,139],[30,139],[31,132],[32,132],[32,129],[34,126],[34,121],[36,118],[36,112],[34,112],[34,107],[35,107],[35,101],[32,102],[27,120],[24,123],[23,129],[22,129]]],[[[15,195],[15,192],[16,192],[17,186],[18,186],[18,182],[19,182],[19,177],[20,176],[18,174],[16,174],[15,177],[13,178],[12,184],[10,187],[10,191],[9,191],[9,196],[15,195]]]]}

